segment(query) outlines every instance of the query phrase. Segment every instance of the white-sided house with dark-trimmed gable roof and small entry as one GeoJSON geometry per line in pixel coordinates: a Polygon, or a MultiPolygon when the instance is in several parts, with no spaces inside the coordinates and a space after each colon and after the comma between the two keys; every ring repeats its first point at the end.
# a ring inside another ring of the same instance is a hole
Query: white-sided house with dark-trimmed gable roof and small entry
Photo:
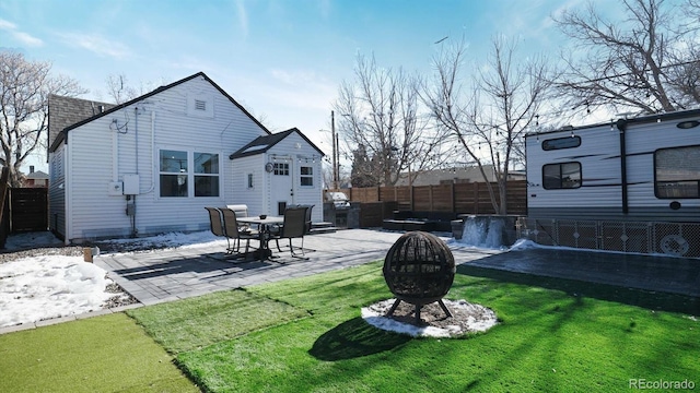
{"type": "MultiPolygon", "coordinates": [[[[202,72],[92,106],[49,132],[49,226],[66,243],[206,230],[205,206],[311,204],[322,219],[320,150],[296,129],[271,134],[202,72]]],[[[70,108],[49,102],[54,115],[70,108]]]]}

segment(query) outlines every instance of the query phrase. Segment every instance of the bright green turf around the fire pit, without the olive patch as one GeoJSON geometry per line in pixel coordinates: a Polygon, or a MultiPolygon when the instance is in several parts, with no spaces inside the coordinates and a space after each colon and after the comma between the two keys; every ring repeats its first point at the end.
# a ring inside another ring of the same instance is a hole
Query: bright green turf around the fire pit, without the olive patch
{"type": "Polygon", "coordinates": [[[158,342],[187,342],[164,345],[212,392],[610,392],[628,390],[631,379],[700,383],[700,323],[690,317],[700,314],[698,299],[467,266],[458,273],[447,297],[501,319],[463,340],[415,340],[364,323],[360,307],[390,297],[378,263],[250,287],[249,298],[217,294],[254,303],[238,307],[235,323],[207,317],[209,297],[190,299],[187,307],[200,310],[188,321],[192,334],[173,325],[182,317],[168,315],[182,314],[179,302],[131,314],[158,342]],[[270,313],[258,325],[244,322],[279,305],[278,324],[270,313]]]}

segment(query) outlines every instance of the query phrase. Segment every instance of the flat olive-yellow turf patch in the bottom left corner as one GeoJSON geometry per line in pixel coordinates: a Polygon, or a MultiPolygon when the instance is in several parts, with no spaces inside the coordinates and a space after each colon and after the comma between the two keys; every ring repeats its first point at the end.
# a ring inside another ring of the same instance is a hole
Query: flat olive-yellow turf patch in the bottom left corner
{"type": "Polygon", "coordinates": [[[124,313],[0,335],[0,392],[199,392],[124,313]]]}

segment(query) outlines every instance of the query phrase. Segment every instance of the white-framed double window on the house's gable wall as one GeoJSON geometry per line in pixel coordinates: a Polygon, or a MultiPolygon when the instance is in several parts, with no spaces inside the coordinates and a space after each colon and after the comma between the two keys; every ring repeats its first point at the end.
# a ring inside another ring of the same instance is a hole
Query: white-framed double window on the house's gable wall
{"type": "Polygon", "coordinates": [[[219,196],[219,154],[162,150],[159,165],[161,196],[219,196]]]}

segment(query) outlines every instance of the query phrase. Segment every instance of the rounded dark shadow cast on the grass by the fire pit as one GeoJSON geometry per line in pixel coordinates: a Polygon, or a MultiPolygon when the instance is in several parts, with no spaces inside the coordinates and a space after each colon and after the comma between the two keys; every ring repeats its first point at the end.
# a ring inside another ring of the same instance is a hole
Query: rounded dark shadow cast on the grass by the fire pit
{"type": "Polygon", "coordinates": [[[408,335],[385,332],[358,317],[324,333],[308,354],[325,361],[352,359],[390,350],[409,341],[408,335]]]}

